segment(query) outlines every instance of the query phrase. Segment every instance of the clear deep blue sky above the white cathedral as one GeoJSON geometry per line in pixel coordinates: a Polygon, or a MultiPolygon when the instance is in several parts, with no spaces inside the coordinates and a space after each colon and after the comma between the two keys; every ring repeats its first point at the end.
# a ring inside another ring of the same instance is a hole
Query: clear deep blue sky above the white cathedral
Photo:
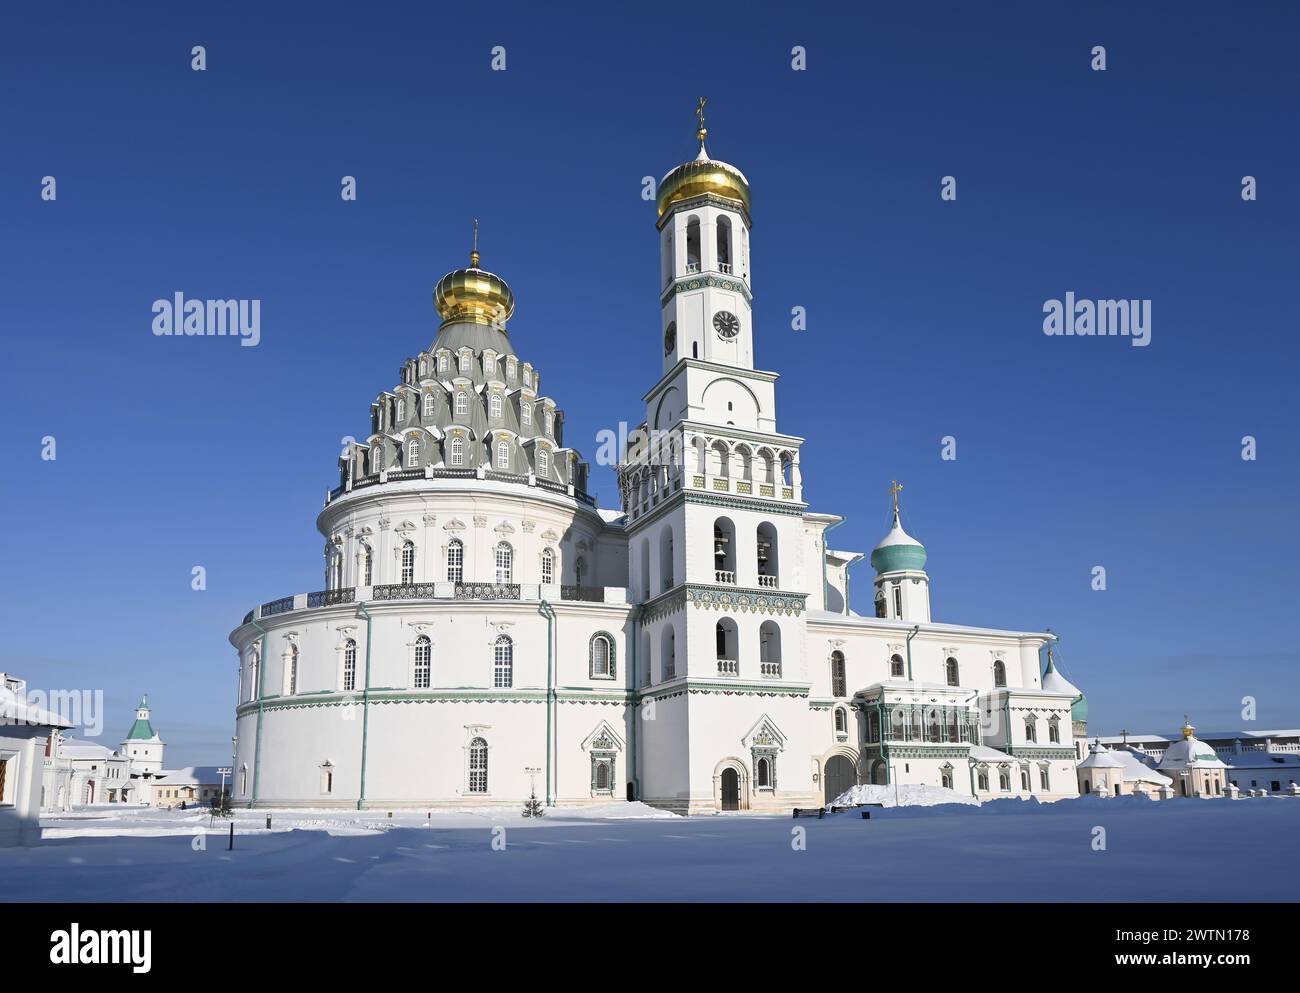
{"type": "Polygon", "coordinates": [[[0,669],[101,688],[109,742],[148,690],[169,764],[224,759],[226,636],[320,589],[339,439],[432,342],[473,217],[569,443],[636,422],[660,361],[641,178],[694,155],[703,94],[753,185],[758,364],[837,546],[879,541],[898,477],[936,619],[1060,632],[1096,732],[1249,727],[1245,695],[1300,724],[1300,14],[983,6],[8,5],[0,669]],[[1150,299],[1150,346],[1045,337],[1071,290],[1150,299]],[[153,337],[177,291],[261,299],[260,346],[153,337]]]}

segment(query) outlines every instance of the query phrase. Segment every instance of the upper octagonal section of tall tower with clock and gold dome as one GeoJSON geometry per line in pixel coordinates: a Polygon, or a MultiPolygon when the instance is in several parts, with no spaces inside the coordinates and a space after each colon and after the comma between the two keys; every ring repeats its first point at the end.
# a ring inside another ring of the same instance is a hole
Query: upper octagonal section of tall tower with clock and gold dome
{"type": "Polygon", "coordinates": [[[663,370],[681,359],[754,368],[749,270],[749,181],[708,157],[705,97],[699,153],[659,183],[663,370]]]}

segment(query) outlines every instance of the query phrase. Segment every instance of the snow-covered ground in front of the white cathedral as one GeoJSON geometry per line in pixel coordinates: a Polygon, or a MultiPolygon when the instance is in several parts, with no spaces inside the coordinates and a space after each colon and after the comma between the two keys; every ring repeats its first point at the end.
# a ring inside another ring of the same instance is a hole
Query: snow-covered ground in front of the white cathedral
{"type": "MultiPolygon", "coordinates": [[[[884,799],[883,797],[880,798],[884,799]]],[[[890,790],[892,802],[892,790],[890,790]]],[[[92,808],[0,849],[0,901],[1294,901],[1300,801],[1080,798],[676,818],[92,808]],[[494,828],[506,849],[493,849],[494,828]],[[1095,850],[1096,828],[1105,850],[1095,850]],[[796,829],[805,846],[798,850],[796,829]],[[205,849],[198,837],[204,837],[205,849]]],[[[931,801],[933,798],[930,798],[931,801]]]]}

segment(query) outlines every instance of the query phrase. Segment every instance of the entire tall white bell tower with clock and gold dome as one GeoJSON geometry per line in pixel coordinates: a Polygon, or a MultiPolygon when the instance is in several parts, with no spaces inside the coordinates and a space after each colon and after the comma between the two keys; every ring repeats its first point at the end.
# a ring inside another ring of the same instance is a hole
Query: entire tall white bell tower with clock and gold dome
{"type": "Polygon", "coordinates": [[[803,439],[777,430],[776,373],[754,367],[749,181],[708,157],[703,105],[698,155],[659,185],[663,367],[619,465],[640,789],[684,812],[788,810],[816,798],[805,642],[823,571],[805,556],[803,439]]]}

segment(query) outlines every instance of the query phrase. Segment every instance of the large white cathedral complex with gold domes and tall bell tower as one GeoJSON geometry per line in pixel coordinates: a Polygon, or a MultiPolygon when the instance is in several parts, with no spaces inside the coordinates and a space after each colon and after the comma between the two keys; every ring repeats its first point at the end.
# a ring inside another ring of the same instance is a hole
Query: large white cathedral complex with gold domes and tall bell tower
{"type": "Polygon", "coordinates": [[[429,347],[370,403],[317,528],[326,589],[270,600],[239,652],[235,801],[682,814],[820,806],[855,784],[1076,795],[1087,703],[1054,636],[931,620],[926,548],[871,552],[849,608],[842,517],[803,499],[802,438],[754,364],[750,188],[705,151],[658,190],[663,363],[618,467],[621,509],[480,266],[434,289],[429,347]]]}

